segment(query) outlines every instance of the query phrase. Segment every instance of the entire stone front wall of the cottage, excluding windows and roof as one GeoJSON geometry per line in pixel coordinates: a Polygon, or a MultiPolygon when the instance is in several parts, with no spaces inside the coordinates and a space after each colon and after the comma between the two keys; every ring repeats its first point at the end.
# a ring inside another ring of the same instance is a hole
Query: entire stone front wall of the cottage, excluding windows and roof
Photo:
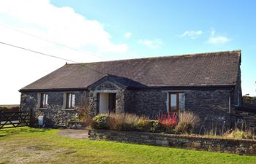
{"type": "MultiPolygon", "coordinates": [[[[100,90],[117,90],[116,93],[116,113],[129,112],[157,118],[160,113],[167,112],[167,93],[172,90],[124,90],[110,87],[100,90]]],[[[96,88],[99,91],[99,88],[96,88]]],[[[197,88],[183,90],[185,93],[185,109],[194,112],[200,117],[200,127],[202,129],[211,128],[212,125],[230,125],[229,96],[233,96],[233,91],[226,89],[197,88]]],[[[80,113],[80,101],[89,105],[91,117],[99,114],[99,94],[95,90],[75,93],[75,109],[64,109],[64,92],[48,92],[48,108],[38,109],[37,93],[27,92],[21,94],[21,109],[34,110],[35,120],[39,115],[44,115],[45,123],[49,126],[66,126],[67,121],[75,118],[80,113]]],[[[231,107],[234,111],[234,101],[231,97],[231,107]]],[[[37,122],[37,120],[36,120],[37,122]]]]}

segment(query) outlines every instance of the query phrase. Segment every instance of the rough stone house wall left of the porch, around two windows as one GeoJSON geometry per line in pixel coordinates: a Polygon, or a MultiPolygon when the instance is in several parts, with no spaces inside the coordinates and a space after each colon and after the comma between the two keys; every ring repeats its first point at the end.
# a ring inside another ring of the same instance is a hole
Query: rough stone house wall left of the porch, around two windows
{"type": "MultiPolygon", "coordinates": [[[[72,91],[70,91],[72,92],[72,91]]],[[[44,122],[47,126],[67,126],[70,119],[78,117],[81,112],[81,106],[86,104],[88,100],[88,93],[76,92],[75,93],[75,109],[64,109],[64,92],[45,92],[48,93],[48,107],[40,109],[37,107],[39,104],[38,93],[26,92],[21,93],[20,105],[22,111],[29,111],[32,109],[34,112],[34,125],[37,125],[37,118],[39,115],[44,116],[44,122]]]]}

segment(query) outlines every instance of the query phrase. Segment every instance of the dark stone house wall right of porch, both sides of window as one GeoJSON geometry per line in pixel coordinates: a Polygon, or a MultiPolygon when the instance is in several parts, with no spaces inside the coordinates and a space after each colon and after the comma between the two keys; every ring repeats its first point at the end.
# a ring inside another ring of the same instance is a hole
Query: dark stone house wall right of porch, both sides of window
{"type": "MultiPolygon", "coordinates": [[[[129,90],[125,94],[125,109],[130,113],[156,118],[159,113],[167,112],[167,93],[171,91],[129,90]]],[[[186,89],[181,91],[185,93],[185,109],[194,112],[200,117],[200,127],[202,127],[202,130],[211,128],[212,125],[222,127],[223,124],[226,128],[229,128],[230,95],[231,110],[234,110],[232,90],[198,87],[193,90],[186,89]]]]}

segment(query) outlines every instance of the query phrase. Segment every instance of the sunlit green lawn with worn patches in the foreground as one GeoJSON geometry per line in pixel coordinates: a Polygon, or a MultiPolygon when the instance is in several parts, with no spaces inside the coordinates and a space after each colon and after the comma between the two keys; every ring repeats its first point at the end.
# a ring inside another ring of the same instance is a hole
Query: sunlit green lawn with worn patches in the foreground
{"type": "Polygon", "coordinates": [[[72,139],[57,131],[0,130],[0,163],[256,163],[255,156],[72,139]]]}

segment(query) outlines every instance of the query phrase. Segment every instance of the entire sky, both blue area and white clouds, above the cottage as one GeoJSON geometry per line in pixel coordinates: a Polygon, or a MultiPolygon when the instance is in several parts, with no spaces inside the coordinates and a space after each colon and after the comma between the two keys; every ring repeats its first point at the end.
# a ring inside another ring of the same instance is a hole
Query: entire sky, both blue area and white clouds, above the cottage
{"type": "MultiPolygon", "coordinates": [[[[241,50],[243,94],[255,95],[255,7],[255,1],[3,0],[0,42],[78,62],[241,50]]],[[[4,44],[0,53],[1,77],[9,79],[0,86],[0,104],[18,104],[17,90],[66,62],[4,44]]]]}

